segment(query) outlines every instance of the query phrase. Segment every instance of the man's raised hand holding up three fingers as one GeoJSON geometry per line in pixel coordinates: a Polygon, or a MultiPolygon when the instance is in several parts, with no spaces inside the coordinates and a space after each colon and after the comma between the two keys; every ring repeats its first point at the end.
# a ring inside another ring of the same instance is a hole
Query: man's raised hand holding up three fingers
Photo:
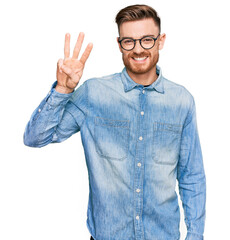
{"type": "Polygon", "coordinates": [[[85,62],[93,48],[93,44],[89,43],[80,60],[78,60],[83,40],[84,33],[81,32],[79,33],[73,56],[70,57],[70,34],[67,33],[65,35],[64,59],[59,59],[57,63],[57,86],[55,89],[60,93],[71,93],[81,79],[85,62]]]}

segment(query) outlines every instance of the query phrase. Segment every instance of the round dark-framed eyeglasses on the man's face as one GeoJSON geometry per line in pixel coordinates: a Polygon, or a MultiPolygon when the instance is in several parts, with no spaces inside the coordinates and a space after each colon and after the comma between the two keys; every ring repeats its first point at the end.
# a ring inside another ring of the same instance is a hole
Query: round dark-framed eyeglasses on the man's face
{"type": "Polygon", "coordinates": [[[159,36],[160,36],[160,33],[158,34],[158,36],[156,38],[151,37],[151,36],[145,36],[140,39],[123,38],[123,39],[119,40],[118,42],[120,43],[121,47],[126,51],[133,50],[136,46],[136,41],[140,42],[140,45],[142,48],[148,50],[148,49],[151,49],[154,47],[155,42],[159,36]]]}

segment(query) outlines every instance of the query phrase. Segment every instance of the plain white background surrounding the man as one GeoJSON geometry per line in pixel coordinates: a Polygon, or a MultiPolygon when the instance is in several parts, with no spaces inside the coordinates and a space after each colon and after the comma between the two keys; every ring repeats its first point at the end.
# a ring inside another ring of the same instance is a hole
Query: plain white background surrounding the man
{"type": "MultiPolygon", "coordinates": [[[[116,13],[145,3],[162,19],[167,39],[163,75],[194,96],[207,177],[205,239],[229,233],[229,5],[227,1],[5,1],[0,6],[0,239],[89,240],[88,174],[80,134],[61,144],[23,145],[33,110],[56,80],[64,35],[93,42],[81,82],[123,68],[116,13]]],[[[186,229],[181,221],[181,239],[186,229]]]]}

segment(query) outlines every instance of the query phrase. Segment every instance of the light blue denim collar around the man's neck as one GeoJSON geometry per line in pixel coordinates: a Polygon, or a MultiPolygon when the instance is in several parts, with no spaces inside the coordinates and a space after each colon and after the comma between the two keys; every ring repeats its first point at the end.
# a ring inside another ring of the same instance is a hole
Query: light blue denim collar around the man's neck
{"type": "MultiPolygon", "coordinates": [[[[159,93],[164,93],[164,85],[163,85],[164,78],[162,76],[162,71],[159,66],[156,66],[156,72],[158,75],[158,78],[156,79],[156,81],[154,81],[151,85],[145,88],[150,90],[152,89],[156,90],[159,93]]],[[[132,90],[136,86],[143,86],[133,81],[133,79],[127,73],[126,68],[124,68],[123,71],[121,72],[121,80],[124,85],[125,92],[132,90]]]]}

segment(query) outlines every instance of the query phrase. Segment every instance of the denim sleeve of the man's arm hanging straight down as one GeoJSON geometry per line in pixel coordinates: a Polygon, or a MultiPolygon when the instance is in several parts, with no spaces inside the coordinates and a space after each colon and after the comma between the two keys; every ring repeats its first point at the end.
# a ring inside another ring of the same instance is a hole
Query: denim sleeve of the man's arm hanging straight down
{"type": "Polygon", "coordinates": [[[177,179],[187,226],[186,240],[203,240],[206,177],[193,98],[182,131],[177,179]]]}

